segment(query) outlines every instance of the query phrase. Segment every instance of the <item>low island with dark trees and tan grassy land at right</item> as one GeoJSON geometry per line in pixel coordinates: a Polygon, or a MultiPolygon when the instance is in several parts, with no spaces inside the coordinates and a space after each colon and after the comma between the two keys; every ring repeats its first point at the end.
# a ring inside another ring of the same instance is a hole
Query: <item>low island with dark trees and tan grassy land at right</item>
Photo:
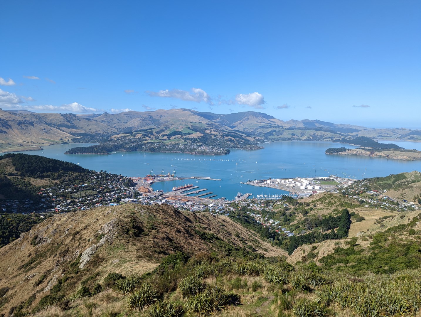
{"type": "Polygon", "coordinates": [[[421,160],[421,151],[408,150],[403,147],[398,147],[396,144],[378,143],[366,137],[352,138],[352,139],[338,139],[333,142],[347,143],[357,145],[356,149],[347,149],[345,147],[330,147],[326,149],[325,153],[330,155],[359,155],[372,157],[386,157],[393,160],[415,161],[421,160]]]}

